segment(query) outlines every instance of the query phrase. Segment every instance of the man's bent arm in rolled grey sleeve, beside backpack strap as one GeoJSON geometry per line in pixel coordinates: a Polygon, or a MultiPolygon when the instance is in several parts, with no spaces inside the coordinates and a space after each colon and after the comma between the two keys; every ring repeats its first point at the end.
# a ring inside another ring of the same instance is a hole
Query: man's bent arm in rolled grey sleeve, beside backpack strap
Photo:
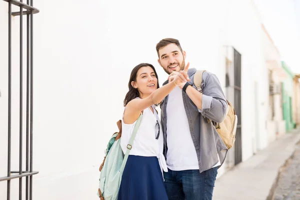
{"type": "Polygon", "coordinates": [[[225,119],[228,104],[215,74],[209,74],[206,78],[203,94],[192,86],[187,86],[185,92],[203,116],[215,122],[225,119]]]}

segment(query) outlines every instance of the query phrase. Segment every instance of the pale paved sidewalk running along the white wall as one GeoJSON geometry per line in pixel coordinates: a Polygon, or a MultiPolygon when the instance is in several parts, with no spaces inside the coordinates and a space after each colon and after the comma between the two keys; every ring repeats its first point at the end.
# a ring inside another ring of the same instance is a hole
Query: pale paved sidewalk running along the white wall
{"type": "Polygon", "coordinates": [[[300,130],[295,129],[224,173],[215,181],[212,199],[267,199],[280,167],[292,155],[299,140],[300,130]]]}

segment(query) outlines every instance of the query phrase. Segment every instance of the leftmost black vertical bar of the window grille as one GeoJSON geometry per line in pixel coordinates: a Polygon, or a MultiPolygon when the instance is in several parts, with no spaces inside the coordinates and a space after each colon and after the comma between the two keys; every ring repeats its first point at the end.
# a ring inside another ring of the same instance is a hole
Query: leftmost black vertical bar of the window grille
{"type": "MultiPolygon", "coordinates": [[[[10,176],[11,143],[11,2],[8,2],[8,149],[7,176],[10,176]]],[[[7,180],[7,200],[10,199],[10,180],[7,180]]]]}

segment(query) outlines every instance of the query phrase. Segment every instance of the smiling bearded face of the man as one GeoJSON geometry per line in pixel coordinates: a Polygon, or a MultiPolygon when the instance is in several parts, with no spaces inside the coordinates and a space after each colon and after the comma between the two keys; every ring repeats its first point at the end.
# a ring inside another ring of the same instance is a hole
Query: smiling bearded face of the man
{"type": "Polygon", "coordinates": [[[158,54],[158,63],[168,74],[184,69],[185,51],[181,52],[176,44],[170,43],[160,48],[158,54]]]}

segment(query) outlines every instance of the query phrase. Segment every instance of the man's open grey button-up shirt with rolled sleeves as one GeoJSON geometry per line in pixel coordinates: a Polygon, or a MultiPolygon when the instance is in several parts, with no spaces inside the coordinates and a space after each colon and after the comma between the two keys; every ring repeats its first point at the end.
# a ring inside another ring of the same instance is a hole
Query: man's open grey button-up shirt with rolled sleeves
{"type": "MultiPolygon", "coordinates": [[[[190,68],[187,74],[193,85],[193,76],[195,68],[190,68]]],[[[163,83],[166,84],[168,81],[163,83]]],[[[194,88],[196,88],[193,85],[194,88]]],[[[202,75],[202,109],[198,109],[188,95],[182,91],[183,104],[188,120],[189,131],[197,153],[199,171],[210,169],[218,162],[218,156],[221,164],[226,157],[227,148],[223,140],[217,133],[212,123],[207,123],[207,117],[215,122],[222,122],[228,112],[228,104],[222,91],[220,82],[215,74],[205,71],[202,75]],[[218,155],[218,156],[217,156],[218,155]]],[[[163,130],[164,156],[166,157],[166,105],[168,96],[161,102],[161,124],[163,130]]],[[[179,146],[178,146],[179,147],[179,146]]],[[[184,147],[184,143],[182,146],[184,147]]],[[[171,150],[171,149],[169,149],[171,150]]]]}

